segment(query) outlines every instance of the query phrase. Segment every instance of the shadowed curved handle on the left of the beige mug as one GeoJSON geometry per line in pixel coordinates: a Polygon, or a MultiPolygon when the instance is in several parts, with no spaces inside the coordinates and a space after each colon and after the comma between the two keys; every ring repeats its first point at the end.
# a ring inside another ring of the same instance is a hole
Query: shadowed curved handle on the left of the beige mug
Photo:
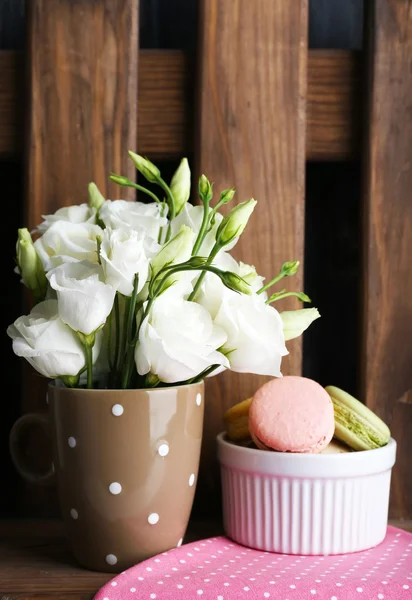
{"type": "Polygon", "coordinates": [[[9,447],[11,458],[18,473],[28,483],[52,485],[55,479],[53,463],[50,465],[50,469],[46,473],[39,473],[30,468],[24,459],[21,448],[21,436],[24,435],[26,431],[31,429],[33,425],[39,425],[42,427],[47,437],[50,438],[50,422],[47,415],[42,415],[39,413],[29,413],[27,415],[23,415],[17,419],[10,431],[9,447]]]}

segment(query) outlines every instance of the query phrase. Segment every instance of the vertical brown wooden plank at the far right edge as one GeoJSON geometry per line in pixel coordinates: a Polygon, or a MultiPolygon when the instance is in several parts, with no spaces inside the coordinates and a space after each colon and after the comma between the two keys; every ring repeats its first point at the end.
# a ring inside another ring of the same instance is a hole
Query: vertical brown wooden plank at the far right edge
{"type": "Polygon", "coordinates": [[[395,518],[412,517],[412,5],[369,5],[362,397],[398,442],[395,518]]]}

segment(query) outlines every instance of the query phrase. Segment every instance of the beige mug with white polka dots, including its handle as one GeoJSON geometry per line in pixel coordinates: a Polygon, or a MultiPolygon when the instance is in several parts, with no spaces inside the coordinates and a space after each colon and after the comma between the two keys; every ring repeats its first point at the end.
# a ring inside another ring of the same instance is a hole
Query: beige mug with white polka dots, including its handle
{"type": "Polygon", "coordinates": [[[19,473],[57,480],[60,509],[77,561],[118,572],[179,546],[192,508],[202,439],[204,384],[152,390],[49,386],[49,415],[21,417],[10,434],[19,473]],[[21,437],[41,425],[53,465],[36,474],[21,437]]]}

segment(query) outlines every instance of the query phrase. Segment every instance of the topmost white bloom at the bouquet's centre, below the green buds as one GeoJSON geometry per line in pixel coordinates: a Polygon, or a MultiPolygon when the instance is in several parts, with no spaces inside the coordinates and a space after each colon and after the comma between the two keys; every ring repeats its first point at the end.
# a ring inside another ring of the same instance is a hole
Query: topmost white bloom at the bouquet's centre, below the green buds
{"type": "Polygon", "coordinates": [[[167,225],[167,218],[162,216],[162,210],[164,207],[156,202],[144,204],[126,200],[106,200],[100,208],[99,217],[106,227],[135,229],[157,241],[160,228],[167,225]]]}

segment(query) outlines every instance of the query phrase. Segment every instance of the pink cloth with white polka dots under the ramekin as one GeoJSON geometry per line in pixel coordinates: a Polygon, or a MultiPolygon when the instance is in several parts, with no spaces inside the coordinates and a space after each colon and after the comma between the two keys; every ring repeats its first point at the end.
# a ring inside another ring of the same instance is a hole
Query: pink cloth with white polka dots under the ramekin
{"type": "Polygon", "coordinates": [[[412,535],[339,556],[251,550],[224,537],[160,554],[117,575],[95,600],[408,600],[412,535]]]}

